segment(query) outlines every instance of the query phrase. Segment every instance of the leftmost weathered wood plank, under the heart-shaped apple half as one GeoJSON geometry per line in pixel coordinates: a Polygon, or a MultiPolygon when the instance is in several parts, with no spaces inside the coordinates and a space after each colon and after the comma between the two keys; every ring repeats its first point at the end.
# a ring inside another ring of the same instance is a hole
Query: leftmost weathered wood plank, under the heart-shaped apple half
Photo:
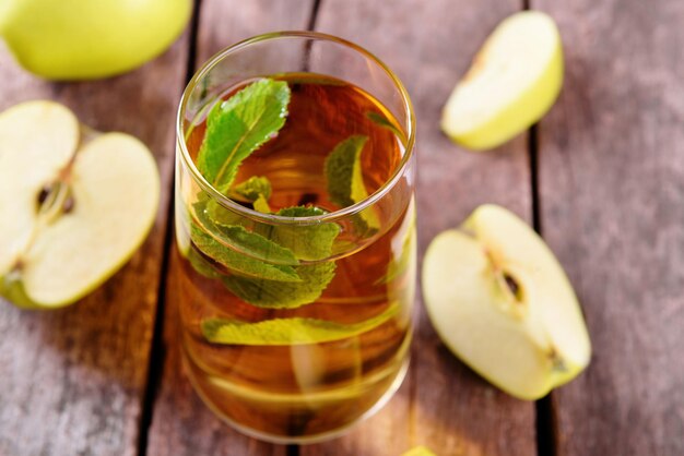
{"type": "Polygon", "coordinates": [[[0,300],[1,455],[137,453],[187,46],[182,36],[139,70],[74,84],[39,81],[0,49],[0,109],[50,98],[97,130],[131,133],[154,152],[163,184],[148,241],[82,302],[40,313],[0,300]]]}

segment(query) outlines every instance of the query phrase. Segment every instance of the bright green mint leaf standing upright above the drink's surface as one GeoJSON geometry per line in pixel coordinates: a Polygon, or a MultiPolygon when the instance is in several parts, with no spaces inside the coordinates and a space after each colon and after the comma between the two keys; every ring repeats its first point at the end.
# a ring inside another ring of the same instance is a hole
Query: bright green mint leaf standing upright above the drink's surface
{"type": "Polygon", "coordinates": [[[285,124],[290,87],[263,79],[217,103],[207,119],[197,167],[220,192],[227,193],[240,163],[285,124]]]}

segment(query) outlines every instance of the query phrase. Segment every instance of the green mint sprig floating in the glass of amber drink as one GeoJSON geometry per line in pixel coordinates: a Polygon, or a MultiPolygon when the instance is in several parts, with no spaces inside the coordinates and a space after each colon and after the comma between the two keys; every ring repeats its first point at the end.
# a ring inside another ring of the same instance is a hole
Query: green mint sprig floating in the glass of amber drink
{"type": "MultiPolygon", "coordinates": [[[[198,169],[215,189],[237,201],[249,202],[263,213],[271,212],[269,180],[255,176],[236,185],[234,181],[243,160],[283,128],[290,98],[287,83],[264,79],[219,103],[208,116],[207,133],[197,159],[198,169]]],[[[351,136],[326,160],[330,196],[341,206],[368,196],[359,158],[367,140],[367,136],[351,136]]],[[[261,308],[297,308],[316,301],[333,279],[334,262],[300,262],[328,259],[341,230],[339,225],[255,224],[203,193],[193,207],[196,218],[190,224],[190,238],[199,252],[189,255],[190,263],[199,274],[222,280],[245,302],[261,308]]],[[[276,213],[284,217],[322,214],[320,208],[306,206],[276,213]]],[[[373,212],[356,217],[366,230],[379,226],[373,212]]]]}

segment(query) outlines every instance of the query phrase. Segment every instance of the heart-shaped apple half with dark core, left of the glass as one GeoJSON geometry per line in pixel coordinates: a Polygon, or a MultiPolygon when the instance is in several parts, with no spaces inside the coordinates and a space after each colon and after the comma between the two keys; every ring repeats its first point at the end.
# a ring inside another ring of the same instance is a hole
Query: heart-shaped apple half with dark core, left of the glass
{"type": "Polygon", "coordinates": [[[160,197],[150,151],[123,133],[91,134],[51,101],[0,115],[0,295],[20,307],[72,303],[138,249],[160,197]]]}

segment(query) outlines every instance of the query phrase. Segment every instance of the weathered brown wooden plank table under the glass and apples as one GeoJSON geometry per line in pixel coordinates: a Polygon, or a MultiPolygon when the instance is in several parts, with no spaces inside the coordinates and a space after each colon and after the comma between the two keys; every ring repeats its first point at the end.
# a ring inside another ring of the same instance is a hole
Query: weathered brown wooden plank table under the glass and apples
{"type": "Polygon", "coordinates": [[[163,181],[152,235],[99,290],[46,313],[0,302],[1,456],[391,456],[418,444],[443,456],[684,454],[684,2],[202,0],[196,13],[162,57],[99,82],[39,81],[0,51],[1,109],[64,103],[98,130],[143,140],[163,181]],[[526,8],[559,24],[561,98],[499,149],[461,151],[439,132],[441,106],[492,28],[526,8]],[[579,379],[535,404],[514,399],[453,358],[421,310],[403,386],[341,439],[261,443],[200,403],[173,323],[176,107],[216,50],[295,28],[359,43],[408,86],[420,123],[421,251],[485,202],[541,231],[591,333],[593,360],[579,379]]]}

